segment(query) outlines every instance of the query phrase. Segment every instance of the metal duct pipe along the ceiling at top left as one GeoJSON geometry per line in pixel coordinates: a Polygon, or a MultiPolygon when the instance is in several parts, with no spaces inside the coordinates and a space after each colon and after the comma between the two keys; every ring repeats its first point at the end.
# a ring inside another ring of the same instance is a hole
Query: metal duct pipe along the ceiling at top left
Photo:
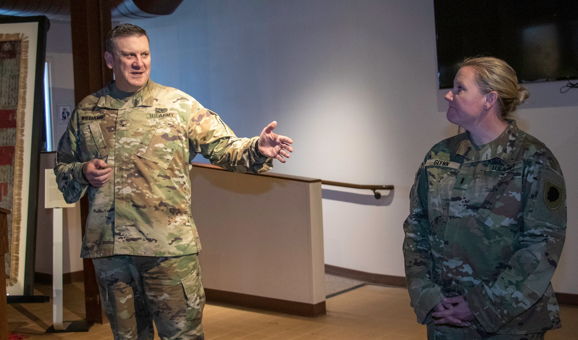
{"type": "MultiPolygon", "coordinates": [[[[79,1],[79,0],[74,0],[79,1]]],[[[70,20],[71,0],[0,0],[0,15],[70,20]]],[[[175,12],[183,0],[112,0],[112,16],[146,19],[175,12]]]]}

